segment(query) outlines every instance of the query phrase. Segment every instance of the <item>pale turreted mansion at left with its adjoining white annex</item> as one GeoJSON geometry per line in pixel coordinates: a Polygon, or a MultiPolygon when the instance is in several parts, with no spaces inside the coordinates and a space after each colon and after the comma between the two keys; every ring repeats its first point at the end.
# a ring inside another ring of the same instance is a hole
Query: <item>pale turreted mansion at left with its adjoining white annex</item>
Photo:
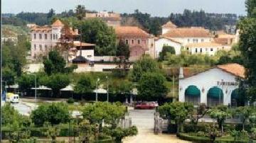
{"type": "Polygon", "coordinates": [[[76,57],[84,57],[84,61],[94,61],[95,45],[80,42],[78,29],[65,26],[60,20],[52,25],[31,27],[31,59],[41,59],[50,50],[63,50],[65,59],[72,62],[76,57]],[[61,49],[60,49],[61,48],[61,49]]]}

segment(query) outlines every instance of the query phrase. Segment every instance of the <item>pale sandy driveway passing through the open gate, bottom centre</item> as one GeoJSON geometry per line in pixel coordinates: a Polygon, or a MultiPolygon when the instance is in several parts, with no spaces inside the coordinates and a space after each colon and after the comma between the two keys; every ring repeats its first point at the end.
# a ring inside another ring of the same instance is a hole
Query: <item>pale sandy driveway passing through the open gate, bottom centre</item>
{"type": "Polygon", "coordinates": [[[139,133],[134,137],[123,139],[124,143],[185,143],[176,135],[154,135],[154,113],[155,110],[129,110],[129,117],[132,118],[132,125],[136,125],[139,133]]]}

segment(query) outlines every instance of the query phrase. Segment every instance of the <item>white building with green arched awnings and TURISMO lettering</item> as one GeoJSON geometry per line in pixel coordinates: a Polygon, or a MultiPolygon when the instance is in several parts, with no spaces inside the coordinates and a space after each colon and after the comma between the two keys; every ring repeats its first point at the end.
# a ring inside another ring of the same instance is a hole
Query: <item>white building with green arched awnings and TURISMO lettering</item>
{"type": "Polygon", "coordinates": [[[184,76],[180,70],[178,85],[178,101],[205,103],[208,106],[237,105],[237,78],[245,78],[245,68],[240,64],[224,64],[206,71],[184,76]]]}

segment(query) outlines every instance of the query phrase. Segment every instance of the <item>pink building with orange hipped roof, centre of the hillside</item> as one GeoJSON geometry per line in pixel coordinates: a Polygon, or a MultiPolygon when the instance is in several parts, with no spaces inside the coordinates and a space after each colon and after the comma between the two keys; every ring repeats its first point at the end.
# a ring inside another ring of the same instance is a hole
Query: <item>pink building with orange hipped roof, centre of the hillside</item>
{"type": "Polygon", "coordinates": [[[117,42],[122,40],[129,45],[130,60],[134,61],[148,54],[155,58],[154,55],[154,37],[146,33],[144,30],[135,26],[117,26],[115,28],[117,42]]]}

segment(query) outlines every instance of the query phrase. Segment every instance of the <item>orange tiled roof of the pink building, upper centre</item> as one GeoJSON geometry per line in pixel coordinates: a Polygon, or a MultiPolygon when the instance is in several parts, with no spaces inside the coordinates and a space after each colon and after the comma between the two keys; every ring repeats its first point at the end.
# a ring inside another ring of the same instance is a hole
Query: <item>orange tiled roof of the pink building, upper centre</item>
{"type": "Polygon", "coordinates": [[[114,28],[117,38],[149,38],[149,33],[136,26],[117,26],[114,28]]]}

